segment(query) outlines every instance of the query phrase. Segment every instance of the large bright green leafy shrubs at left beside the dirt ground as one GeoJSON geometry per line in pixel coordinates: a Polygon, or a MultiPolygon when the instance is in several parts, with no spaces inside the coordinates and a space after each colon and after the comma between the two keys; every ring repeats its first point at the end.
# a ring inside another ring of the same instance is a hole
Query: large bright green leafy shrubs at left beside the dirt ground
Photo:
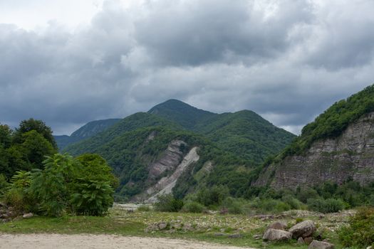
{"type": "Polygon", "coordinates": [[[43,170],[33,171],[30,191],[46,216],[65,212],[102,216],[113,205],[113,175],[101,157],[89,154],[74,159],[55,154],[43,163],[43,170]]]}

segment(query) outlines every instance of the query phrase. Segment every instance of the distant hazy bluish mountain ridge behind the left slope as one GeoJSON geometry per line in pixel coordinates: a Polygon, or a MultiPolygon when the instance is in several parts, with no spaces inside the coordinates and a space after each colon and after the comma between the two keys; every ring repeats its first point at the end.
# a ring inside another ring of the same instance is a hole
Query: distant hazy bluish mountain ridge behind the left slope
{"type": "Polygon", "coordinates": [[[120,119],[95,120],[83,125],[83,127],[80,127],[75,132],[73,132],[71,136],[61,135],[53,137],[56,140],[58,149],[63,149],[69,144],[79,142],[80,140],[92,137],[93,135],[98,134],[99,132],[103,132],[103,130],[107,129],[108,127],[111,127],[118,121],[120,121],[120,119]]]}

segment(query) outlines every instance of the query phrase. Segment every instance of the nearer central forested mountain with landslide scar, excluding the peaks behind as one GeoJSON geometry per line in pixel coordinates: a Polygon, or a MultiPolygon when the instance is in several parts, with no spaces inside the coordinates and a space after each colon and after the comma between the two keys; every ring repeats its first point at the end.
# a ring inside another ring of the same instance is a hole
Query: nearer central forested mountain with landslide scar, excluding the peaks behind
{"type": "Polygon", "coordinates": [[[240,195],[252,171],[246,161],[200,134],[145,112],[71,144],[64,152],[104,157],[120,179],[116,198],[126,201],[155,201],[157,194],[171,192],[185,196],[198,186],[215,184],[225,184],[232,194],[240,195]]]}

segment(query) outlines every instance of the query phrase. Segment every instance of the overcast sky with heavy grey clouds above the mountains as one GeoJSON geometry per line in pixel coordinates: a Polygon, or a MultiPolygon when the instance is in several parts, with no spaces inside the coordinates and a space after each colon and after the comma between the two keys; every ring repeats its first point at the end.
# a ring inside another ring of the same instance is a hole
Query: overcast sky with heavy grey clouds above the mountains
{"type": "Polygon", "coordinates": [[[0,122],[54,134],[169,99],[299,134],[374,83],[372,0],[0,0],[0,122]]]}

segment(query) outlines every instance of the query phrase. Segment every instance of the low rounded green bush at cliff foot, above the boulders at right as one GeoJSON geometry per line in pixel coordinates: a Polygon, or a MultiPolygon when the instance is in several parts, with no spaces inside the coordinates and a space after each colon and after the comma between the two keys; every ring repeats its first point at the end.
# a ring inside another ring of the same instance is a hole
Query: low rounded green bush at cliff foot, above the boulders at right
{"type": "Polygon", "coordinates": [[[346,203],[335,198],[310,198],[308,199],[308,209],[321,213],[336,213],[346,208],[346,203]]]}

